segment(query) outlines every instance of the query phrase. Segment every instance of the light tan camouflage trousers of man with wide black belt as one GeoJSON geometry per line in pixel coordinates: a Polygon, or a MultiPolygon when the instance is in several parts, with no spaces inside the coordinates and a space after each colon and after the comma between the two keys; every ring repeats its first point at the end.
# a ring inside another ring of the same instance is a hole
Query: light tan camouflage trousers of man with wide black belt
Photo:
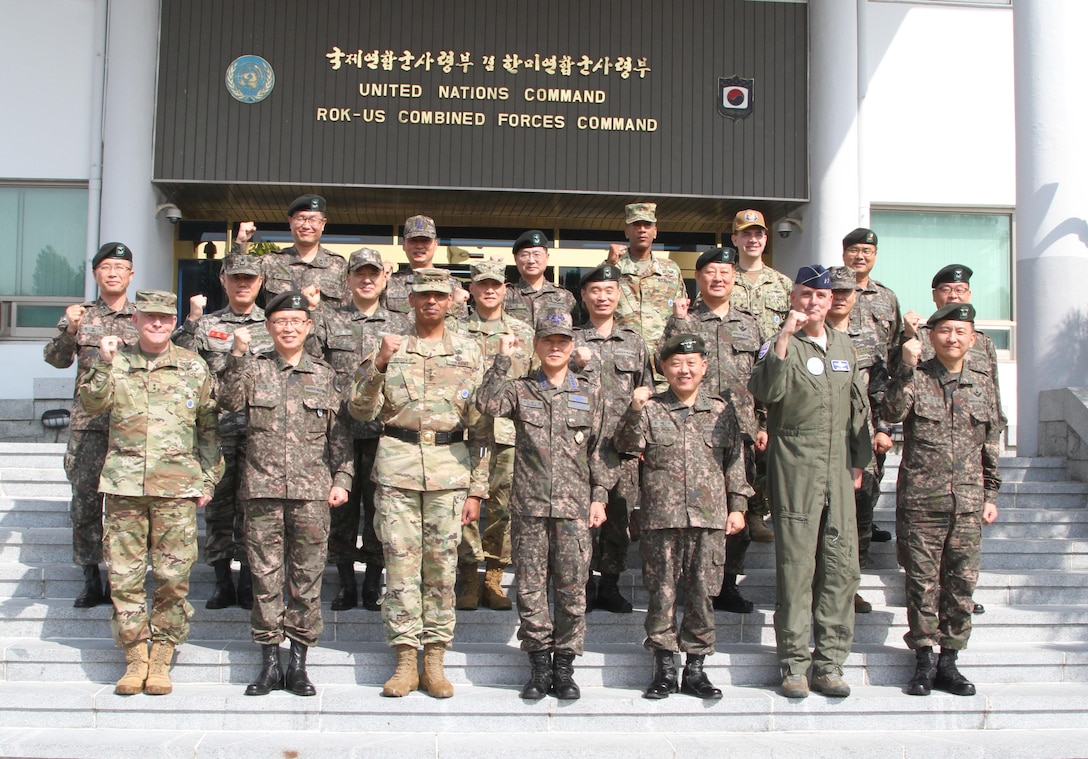
{"type": "Polygon", "coordinates": [[[390,646],[454,639],[454,583],[466,490],[379,485],[378,536],[385,553],[382,622],[390,646]]]}

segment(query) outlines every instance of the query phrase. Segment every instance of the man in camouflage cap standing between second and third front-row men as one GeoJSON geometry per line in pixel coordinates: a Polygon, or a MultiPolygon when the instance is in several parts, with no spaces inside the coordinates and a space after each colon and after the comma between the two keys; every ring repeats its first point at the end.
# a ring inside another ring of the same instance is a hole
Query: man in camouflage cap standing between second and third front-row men
{"type": "MultiPolygon", "coordinates": [[[[335,311],[325,311],[317,324],[317,341],[325,361],[336,370],[337,389],[346,396],[363,357],[386,335],[403,335],[411,329],[407,315],[386,310],[380,302],[388,275],[376,250],[360,248],[347,262],[347,288],[350,300],[335,311]]],[[[381,609],[382,542],[374,532],[374,468],[381,422],[358,422],[342,411],[351,425],[355,439],[355,480],[347,503],[332,512],[329,531],[329,562],[336,565],[341,587],[332,601],[333,611],[354,609],[362,600],[369,611],[381,609]],[[359,547],[359,517],[362,515],[362,547],[359,547]],[[367,565],[362,592],[355,580],[355,562],[367,565]]]]}

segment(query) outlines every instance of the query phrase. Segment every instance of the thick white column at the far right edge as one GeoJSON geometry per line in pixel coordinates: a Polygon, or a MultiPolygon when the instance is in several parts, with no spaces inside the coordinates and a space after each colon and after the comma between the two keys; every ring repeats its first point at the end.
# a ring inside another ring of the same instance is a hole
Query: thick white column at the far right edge
{"type": "Polygon", "coordinates": [[[1088,2],[1015,0],[1017,450],[1039,394],[1088,385],[1088,2]]]}

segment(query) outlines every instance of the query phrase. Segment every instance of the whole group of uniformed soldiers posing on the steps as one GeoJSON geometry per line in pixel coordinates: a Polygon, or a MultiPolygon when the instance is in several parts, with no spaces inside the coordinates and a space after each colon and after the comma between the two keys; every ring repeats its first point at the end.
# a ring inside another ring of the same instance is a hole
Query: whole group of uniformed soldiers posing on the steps
{"type": "Polygon", "coordinates": [[[46,347],[53,365],[78,362],[65,455],[85,578],[75,606],[112,601],[127,662],[116,693],[172,688],[203,509],[207,608],[251,609],[261,647],[247,695],[316,693],[306,655],[322,632],[329,562],[334,610],[381,610],[396,654],[383,695],[453,696],[455,609],[510,609],[512,564],[530,664],[521,696],[579,698],[585,613],[632,610],[619,580],[635,538],[654,657],[646,698],[721,698],[704,659],[715,609],[753,609],[737,584],[753,539],[776,546],[783,695],[846,696],[899,422],[908,692],[974,693],[955,662],[981,524],[997,517],[1003,416],[969,269],[935,276],[938,311],[923,325],[870,278],[871,231],[846,236],[843,266],[805,266],[794,282],[764,263],[767,224],[745,210],[732,245],[698,257],[692,302],[677,264],[653,254],[656,206],[632,203],[627,245],[582,278],[588,320],[576,327],[573,296],[545,276],[543,232],[515,241],[517,283],[502,262],[477,261],[466,290],[432,265],[430,217],[407,220],[408,265],[393,271],[368,248],[347,260],[325,249],[325,212],[320,196],[296,199],[294,245],[262,257],[246,252],[256,226],[239,225],[221,273],[227,306],[205,313],[194,296],[180,326],[171,293],[128,301],[132,251],[107,244],[92,261],[99,299],[70,307],[46,347]]]}

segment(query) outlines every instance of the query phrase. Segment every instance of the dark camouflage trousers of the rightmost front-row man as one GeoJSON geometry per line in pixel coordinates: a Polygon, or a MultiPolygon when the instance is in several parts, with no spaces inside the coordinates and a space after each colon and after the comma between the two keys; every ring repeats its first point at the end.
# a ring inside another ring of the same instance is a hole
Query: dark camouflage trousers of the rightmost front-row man
{"type": "Polygon", "coordinates": [[[982,552],[981,514],[898,509],[895,548],[906,573],[907,647],[966,648],[982,552]]]}

